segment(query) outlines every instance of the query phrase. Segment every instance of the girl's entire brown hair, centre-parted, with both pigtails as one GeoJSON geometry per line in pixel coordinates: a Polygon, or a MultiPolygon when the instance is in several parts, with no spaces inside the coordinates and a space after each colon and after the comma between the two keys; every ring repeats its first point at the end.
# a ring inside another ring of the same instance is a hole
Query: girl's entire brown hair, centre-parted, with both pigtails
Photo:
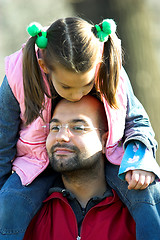
{"type": "MultiPolygon", "coordinates": [[[[23,49],[26,125],[38,116],[42,117],[45,95],[52,98],[57,95],[50,77],[56,64],[68,71],[84,73],[99,63],[100,43],[92,31],[93,27],[92,24],[77,17],[59,19],[47,30],[48,44],[45,49],[39,49],[36,52],[35,41],[37,37],[31,37],[28,40],[23,49]],[[43,59],[48,74],[44,74],[40,69],[38,57],[43,59]],[[46,88],[44,78],[48,81],[50,91],[46,88]]],[[[117,107],[116,89],[121,56],[117,44],[118,38],[115,34],[111,35],[104,44],[95,83],[109,105],[117,107]]]]}

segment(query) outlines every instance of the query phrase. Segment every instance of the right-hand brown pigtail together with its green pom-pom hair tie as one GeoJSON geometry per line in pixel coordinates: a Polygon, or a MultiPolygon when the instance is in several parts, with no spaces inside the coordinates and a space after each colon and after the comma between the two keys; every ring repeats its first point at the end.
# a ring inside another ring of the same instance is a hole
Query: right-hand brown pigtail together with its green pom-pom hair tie
{"type": "Polygon", "coordinates": [[[104,19],[92,28],[94,35],[104,43],[102,61],[96,75],[96,87],[114,108],[118,108],[116,92],[121,68],[121,45],[115,33],[116,27],[113,19],[104,19]]]}

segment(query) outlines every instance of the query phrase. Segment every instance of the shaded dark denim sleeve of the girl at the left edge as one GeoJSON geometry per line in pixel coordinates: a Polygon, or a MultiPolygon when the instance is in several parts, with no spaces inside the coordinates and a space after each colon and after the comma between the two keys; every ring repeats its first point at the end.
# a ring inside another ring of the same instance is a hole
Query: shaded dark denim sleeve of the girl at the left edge
{"type": "Polygon", "coordinates": [[[20,107],[5,76],[0,86],[0,188],[11,173],[19,136],[20,107]]]}

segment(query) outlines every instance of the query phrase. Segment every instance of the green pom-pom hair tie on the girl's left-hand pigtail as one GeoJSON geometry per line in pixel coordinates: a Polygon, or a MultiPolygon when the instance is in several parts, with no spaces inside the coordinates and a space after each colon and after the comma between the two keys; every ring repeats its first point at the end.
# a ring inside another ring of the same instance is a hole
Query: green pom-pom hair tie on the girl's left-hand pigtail
{"type": "Polygon", "coordinates": [[[31,23],[27,27],[27,32],[31,37],[37,36],[36,44],[39,48],[46,48],[48,43],[47,32],[42,31],[43,27],[37,22],[31,23]]]}

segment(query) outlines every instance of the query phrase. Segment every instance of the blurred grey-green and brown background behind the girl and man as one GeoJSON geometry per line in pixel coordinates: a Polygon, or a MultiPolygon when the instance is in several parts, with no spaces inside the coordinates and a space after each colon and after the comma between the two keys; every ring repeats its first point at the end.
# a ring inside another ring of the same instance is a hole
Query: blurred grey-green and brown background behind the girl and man
{"type": "MultiPolygon", "coordinates": [[[[160,1],[159,0],[0,0],[0,84],[4,58],[18,50],[38,21],[79,16],[93,23],[113,18],[125,53],[124,68],[145,107],[160,145],[160,1]]],[[[160,164],[160,149],[157,152],[160,164]]]]}

